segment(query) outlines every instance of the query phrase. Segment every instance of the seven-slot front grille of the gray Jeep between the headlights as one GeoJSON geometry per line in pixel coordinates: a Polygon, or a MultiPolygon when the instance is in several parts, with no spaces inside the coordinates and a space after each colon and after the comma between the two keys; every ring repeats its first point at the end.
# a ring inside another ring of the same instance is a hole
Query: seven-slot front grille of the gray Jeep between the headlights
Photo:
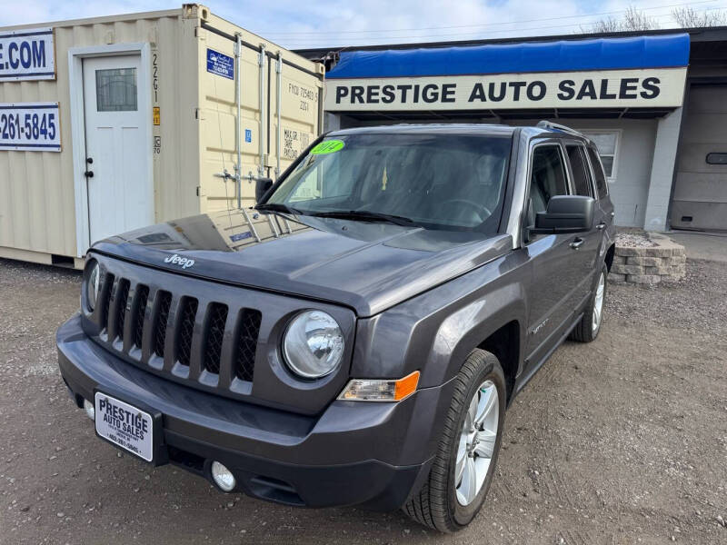
{"type": "Polygon", "coordinates": [[[201,302],[111,273],[101,293],[99,340],[109,350],[124,352],[150,371],[205,386],[253,381],[260,311],[201,302]]]}

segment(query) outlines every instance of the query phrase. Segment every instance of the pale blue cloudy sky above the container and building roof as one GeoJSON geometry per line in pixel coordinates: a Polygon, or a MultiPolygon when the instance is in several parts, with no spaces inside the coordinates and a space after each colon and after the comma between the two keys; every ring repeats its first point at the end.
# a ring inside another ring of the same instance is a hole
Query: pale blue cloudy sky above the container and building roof
{"type": "MultiPolygon", "coordinates": [[[[170,0],[2,0],[0,26],[45,23],[180,7],[170,0]]],[[[288,48],[568,35],[601,18],[620,18],[634,5],[662,28],[672,9],[727,8],[727,0],[276,0],[205,2],[219,15],[288,48]]]]}

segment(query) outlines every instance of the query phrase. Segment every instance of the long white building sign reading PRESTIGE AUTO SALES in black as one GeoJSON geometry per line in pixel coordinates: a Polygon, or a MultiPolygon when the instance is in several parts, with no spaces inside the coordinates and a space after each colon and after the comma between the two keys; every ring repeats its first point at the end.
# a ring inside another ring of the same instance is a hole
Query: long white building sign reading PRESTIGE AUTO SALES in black
{"type": "Polygon", "coordinates": [[[678,107],[686,68],[330,79],[328,112],[678,107]]]}

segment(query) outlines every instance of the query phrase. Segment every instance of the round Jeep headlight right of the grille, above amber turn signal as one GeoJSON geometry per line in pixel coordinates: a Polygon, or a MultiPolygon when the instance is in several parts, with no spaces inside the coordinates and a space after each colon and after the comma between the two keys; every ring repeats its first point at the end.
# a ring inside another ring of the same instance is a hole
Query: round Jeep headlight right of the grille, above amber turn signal
{"type": "Polygon", "coordinates": [[[319,379],[334,372],[344,357],[344,333],[327,312],[301,312],[285,331],[283,355],[292,372],[319,379]]]}

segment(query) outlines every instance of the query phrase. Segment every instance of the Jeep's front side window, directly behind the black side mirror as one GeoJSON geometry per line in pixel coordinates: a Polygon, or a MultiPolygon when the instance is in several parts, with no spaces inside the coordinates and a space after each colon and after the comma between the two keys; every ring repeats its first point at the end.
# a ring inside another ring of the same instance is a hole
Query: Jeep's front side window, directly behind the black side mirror
{"type": "Polygon", "coordinates": [[[530,203],[528,227],[535,225],[535,214],[545,212],[553,195],[567,195],[563,153],[558,144],[539,145],[533,150],[533,166],[530,177],[530,203]]]}

